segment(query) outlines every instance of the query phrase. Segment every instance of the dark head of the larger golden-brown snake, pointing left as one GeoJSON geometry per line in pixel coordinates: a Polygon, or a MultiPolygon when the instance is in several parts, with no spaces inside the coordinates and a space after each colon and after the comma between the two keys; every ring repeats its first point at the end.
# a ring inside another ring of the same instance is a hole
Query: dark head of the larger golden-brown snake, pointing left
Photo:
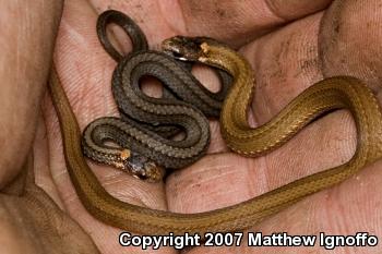
{"type": "Polygon", "coordinates": [[[178,60],[200,61],[206,57],[205,41],[202,38],[175,36],[162,43],[162,50],[178,60]]]}

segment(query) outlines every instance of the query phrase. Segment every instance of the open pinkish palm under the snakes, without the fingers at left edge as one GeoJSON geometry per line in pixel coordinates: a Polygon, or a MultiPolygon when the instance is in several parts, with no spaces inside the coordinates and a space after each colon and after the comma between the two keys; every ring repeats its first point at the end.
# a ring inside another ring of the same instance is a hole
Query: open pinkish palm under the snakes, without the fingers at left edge
{"type": "MultiPolygon", "coordinates": [[[[374,60],[379,53],[374,47],[380,41],[379,34],[374,33],[379,31],[375,27],[379,17],[377,3],[334,1],[323,15],[320,10],[326,8],[330,1],[298,1],[288,5],[283,1],[267,2],[181,1],[176,5],[167,1],[127,3],[67,0],[56,64],[80,126],[83,129],[95,118],[117,113],[110,93],[110,76],[116,63],[104,52],[95,33],[97,14],[107,8],[122,11],[138,21],[152,46],[172,35],[186,34],[215,37],[240,48],[256,75],[258,87],[250,116],[255,125],[270,120],[302,89],[323,77],[338,74],[358,76],[378,92],[379,62],[374,60]],[[350,20],[357,22],[348,22],[350,20]],[[367,28],[359,28],[365,24],[367,28]]],[[[117,38],[123,51],[128,52],[126,37],[117,34],[117,38]]],[[[196,68],[194,73],[203,84],[216,89],[216,78],[210,71],[196,68]]],[[[147,86],[148,90],[153,89],[151,84],[147,86]]],[[[46,101],[44,109],[50,158],[43,156],[47,153],[41,153],[47,152],[47,141],[44,140],[44,122],[40,121],[35,141],[37,183],[62,204],[64,210],[92,235],[102,252],[118,252],[122,249],[117,242],[120,230],[95,220],[81,205],[65,171],[55,111],[49,101],[46,101]],[[51,179],[47,177],[48,168],[51,179]]],[[[310,124],[288,144],[254,159],[228,152],[219,136],[217,122],[212,121],[211,128],[210,155],[171,174],[166,185],[143,183],[109,167],[91,165],[104,186],[124,202],[171,211],[196,213],[246,201],[303,176],[345,162],[356,146],[351,117],[343,111],[333,112],[310,124]]],[[[378,166],[368,167],[356,178],[299,202],[250,231],[262,231],[264,234],[274,231],[289,234],[317,234],[320,231],[354,234],[368,231],[380,235],[381,227],[377,220],[380,202],[377,195],[370,195],[379,186],[378,166]]],[[[86,243],[84,240],[84,245],[86,243]]],[[[237,250],[234,247],[229,251],[237,250]]],[[[273,251],[267,247],[270,250],[273,251]]],[[[366,250],[370,251],[368,253],[379,251],[378,247],[360,247],[355,252],[365,253],[366,250]]],[[[208,251],[228,252],[223,247],[196,247],[190,252],[208,251]]],[[[243,251],[264,252],[261,247],[240,250],[243,251]]],[[[320,246],[279,247],[274,253],[308,251],[324,250],[320,246]]]]}

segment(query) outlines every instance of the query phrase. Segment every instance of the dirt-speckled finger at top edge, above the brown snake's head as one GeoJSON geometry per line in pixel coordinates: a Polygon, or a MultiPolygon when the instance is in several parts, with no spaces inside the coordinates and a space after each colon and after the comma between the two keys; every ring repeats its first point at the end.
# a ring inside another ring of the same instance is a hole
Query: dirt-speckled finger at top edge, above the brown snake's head
{"type": "Polygon", "coordinates": [[[188,34],[211,36],[239,47],[293,20],[321,11],[330,2],[195,0],[180,1],[180,9],[188,34]]]}

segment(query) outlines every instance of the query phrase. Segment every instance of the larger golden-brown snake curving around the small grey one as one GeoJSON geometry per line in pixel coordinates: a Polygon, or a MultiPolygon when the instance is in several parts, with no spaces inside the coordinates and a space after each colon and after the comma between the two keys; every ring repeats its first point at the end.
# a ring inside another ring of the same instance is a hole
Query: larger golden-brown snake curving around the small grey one
{"type": "Polygon", "coordinates": [[[348,109],[358,130],[358,145],[346,164],[308,176],[276,190],[226,208],[200,214],[175,214],[123,203],[99,184],[81,153],[81,132],[55,70],[50,93],[63,136],[64,156],[71,180],[85,208],[97,219],[120,229],[145,234],[175,232],[238,231],[300,201],[342,182],[382,156],[382,117],[371,90],[354,77],[323,80],[306,89],[266,124],[251,129],[246,112],[253,89],[252,70],[235,51],[176,37],[164,43],[166,50],[225,69],[234,76],[234,88],[225,100],[223,135],[234,150],[258,156],[284,144],[298,130],[325,111],[348,109]],[[178,46],[181,46],[180,48],[178,46]],[[184,49],[184,45],[187,48],[184,49]]]}

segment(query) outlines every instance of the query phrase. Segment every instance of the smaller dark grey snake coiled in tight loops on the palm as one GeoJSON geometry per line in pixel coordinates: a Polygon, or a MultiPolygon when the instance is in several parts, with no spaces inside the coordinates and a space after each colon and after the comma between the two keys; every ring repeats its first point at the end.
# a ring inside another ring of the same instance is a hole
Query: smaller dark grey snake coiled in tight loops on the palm
{"type": "Polygon", "coordinates": [[[217,93],[208,90],[191,74],[191,62],[148,50],[138,24],[116,10],[99,15],[97,35],[118,63],[111,90],[120,118],[103,117],[91,122],[83,132],[84,154],[151,181],[162,179],[163,168],[184,168],[204,156],[210,144],[206,117],[219,117],[230,87],[227,74],[219,72],[222,88],[217,93]],[[127,56],[110,43],[107,36],[110,23],[119,25],[131,38],[133,49],[127,56]],[[142,92],[140,81],[145,76],[162,82],[163,97],[154,98],[142,92]],[[180,132],[186,134],[184,138],[171,138],[180,132]]]}

